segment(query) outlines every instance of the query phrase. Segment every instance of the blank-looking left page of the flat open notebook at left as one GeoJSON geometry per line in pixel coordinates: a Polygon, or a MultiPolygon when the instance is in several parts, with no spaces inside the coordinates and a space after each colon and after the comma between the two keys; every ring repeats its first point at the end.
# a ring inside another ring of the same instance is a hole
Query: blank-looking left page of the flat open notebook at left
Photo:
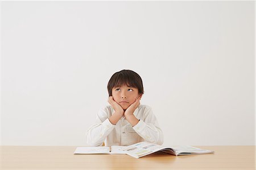
{"type": "Polygon", "coordinates": [[[110,147],[97,146],[97,147],[77,147],[74,154],[110,154],[110,147]]]}

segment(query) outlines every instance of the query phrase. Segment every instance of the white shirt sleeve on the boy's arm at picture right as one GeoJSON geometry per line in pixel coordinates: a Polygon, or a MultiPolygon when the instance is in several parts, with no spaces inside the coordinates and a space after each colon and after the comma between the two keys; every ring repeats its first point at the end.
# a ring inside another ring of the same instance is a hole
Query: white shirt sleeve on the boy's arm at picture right
{"type": "Polygon", "coordinates": [[[150,107],[145,110],[144,121],[141,119],[133,129],[147,142],[163,144],[163,132],[150,107]]]}

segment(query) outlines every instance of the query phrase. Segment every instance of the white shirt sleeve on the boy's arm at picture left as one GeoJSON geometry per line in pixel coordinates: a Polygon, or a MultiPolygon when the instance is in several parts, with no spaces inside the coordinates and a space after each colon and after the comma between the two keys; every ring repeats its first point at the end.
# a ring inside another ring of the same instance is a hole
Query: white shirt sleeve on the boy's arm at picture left
{"type": "Polygon", "coordinates": [[[101,109],[96,117],[94,125],[90,126],[85,134],[87,146],[102,146],[106,136],[115,128],[115,125],[109,122],[108,110],[101,109]]]}

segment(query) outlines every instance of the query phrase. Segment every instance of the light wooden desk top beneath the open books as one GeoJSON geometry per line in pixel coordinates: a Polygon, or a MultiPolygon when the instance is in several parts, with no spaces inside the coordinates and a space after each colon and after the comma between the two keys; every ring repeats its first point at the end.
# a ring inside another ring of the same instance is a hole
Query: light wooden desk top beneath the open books
{"type": "Polygon", "coordinates": [[[214,154],[73,155],[71,146],[1,146],[2,169],[254,169],[254,146],[196,146],[214,154]]]}

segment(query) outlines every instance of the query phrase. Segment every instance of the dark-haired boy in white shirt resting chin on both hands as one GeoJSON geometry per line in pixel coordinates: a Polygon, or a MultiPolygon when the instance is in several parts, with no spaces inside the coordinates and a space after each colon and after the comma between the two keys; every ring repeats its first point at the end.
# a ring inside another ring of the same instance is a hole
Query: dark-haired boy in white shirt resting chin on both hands
{"type": "Polygon", "coordinates": [[[88,146],[122,145],[147,141],[163,144],[163,132],[151,107],[140,105],[144,93],[139,74],[122,70],[108,83],[110,106],[101,109],[96,123],[86,131],[88,146]]]}

